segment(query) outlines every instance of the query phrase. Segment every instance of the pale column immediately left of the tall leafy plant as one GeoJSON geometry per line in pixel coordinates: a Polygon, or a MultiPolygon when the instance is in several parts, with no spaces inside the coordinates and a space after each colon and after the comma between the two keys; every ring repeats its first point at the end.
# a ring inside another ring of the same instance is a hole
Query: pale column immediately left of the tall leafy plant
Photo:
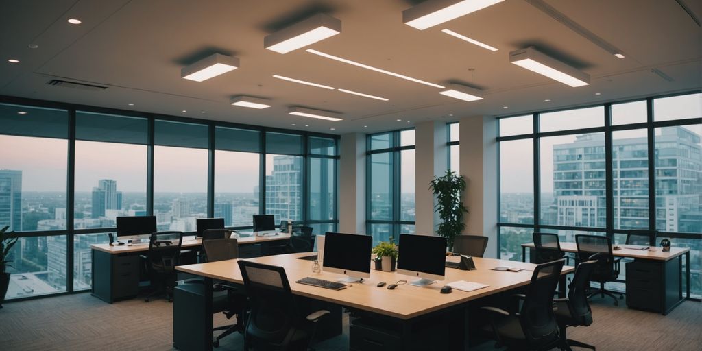
{"type": "Polygon", "coordinates": [[[425,121],[415,129],[415,230],[417,234],[435,234],[439,215],[434,212],[436,197],[429,189],[435,176],[446,173],[446,123],[425,121]]]}

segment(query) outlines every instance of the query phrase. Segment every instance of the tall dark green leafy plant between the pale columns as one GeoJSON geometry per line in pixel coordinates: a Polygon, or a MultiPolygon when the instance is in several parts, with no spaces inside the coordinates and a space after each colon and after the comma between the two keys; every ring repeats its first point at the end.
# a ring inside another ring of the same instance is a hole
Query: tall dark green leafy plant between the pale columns
{"type": "Polygon", "coordinates": [[[434,177],[429,183],[429,188],[437,196],[435,212],[439,213],[442,223],[439,224],[437,234],[446,238],[449,251],[453,249],[453,238],[460,235],[465,229],[463,213],[468,209],[463,206],[461,194],[465,190],[463,176],[446,171],[442,177],[434,177]]]}

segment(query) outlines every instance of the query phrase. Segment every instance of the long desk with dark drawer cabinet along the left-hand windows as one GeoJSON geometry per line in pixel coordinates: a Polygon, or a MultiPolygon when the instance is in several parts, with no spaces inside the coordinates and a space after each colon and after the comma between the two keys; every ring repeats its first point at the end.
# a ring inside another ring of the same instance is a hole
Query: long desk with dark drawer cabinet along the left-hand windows
{"type": "MultiPolygon", "coordinates": [[[[290,234],[280,233],[277,235],[266,235],[264,237],[242,237],[237,239],[241,256],[262,256],[267,255],[268,244],[290,239],[290,234]],[[254,244],[260,244],[260,251],[248,250],[254,244]]],[[[202,244],[201,239],[183,241],[183,249],[199,249],[202,244]]],[[[91,245],[92,266],[93,266],[93,296],[100,298],[107,303],[123,298],[133,298],[139,292],[140,282],[140,260],[139,255],[149,251],[149,244],[135,244],[133,246],[110,244],[91,245]]]]}

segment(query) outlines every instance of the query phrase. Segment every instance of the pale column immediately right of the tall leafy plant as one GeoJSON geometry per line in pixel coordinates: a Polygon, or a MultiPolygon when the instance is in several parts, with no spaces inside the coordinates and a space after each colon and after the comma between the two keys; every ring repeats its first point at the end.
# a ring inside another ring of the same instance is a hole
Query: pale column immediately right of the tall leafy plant
{"type": "Polygon", "coordinates": [[[466,187],[463,205],[468,208],[463,234],[489,237],[485,257],[496,258],[497,247],[497,119],[463,117],[458,129],[461,140],[461,175],[466,187]]]}

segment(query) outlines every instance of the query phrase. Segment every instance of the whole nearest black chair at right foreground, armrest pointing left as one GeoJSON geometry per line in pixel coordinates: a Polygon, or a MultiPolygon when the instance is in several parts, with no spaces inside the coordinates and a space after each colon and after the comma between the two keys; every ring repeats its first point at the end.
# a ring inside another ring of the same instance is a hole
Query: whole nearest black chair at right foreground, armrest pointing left
{"type": "Polygon", "coordinates": [[[555,260],[536,266],[531,283],[523,299],[519,313],[497,307],[480,307],[490,312],[490,324],[483,331],[491,331],[497,341],[496,347],[507,346],[508,350],[550,350],[553,347],[567,348],[560,337],[558,322],[553,312],[553,294],[565,260],[555,260]]]}

